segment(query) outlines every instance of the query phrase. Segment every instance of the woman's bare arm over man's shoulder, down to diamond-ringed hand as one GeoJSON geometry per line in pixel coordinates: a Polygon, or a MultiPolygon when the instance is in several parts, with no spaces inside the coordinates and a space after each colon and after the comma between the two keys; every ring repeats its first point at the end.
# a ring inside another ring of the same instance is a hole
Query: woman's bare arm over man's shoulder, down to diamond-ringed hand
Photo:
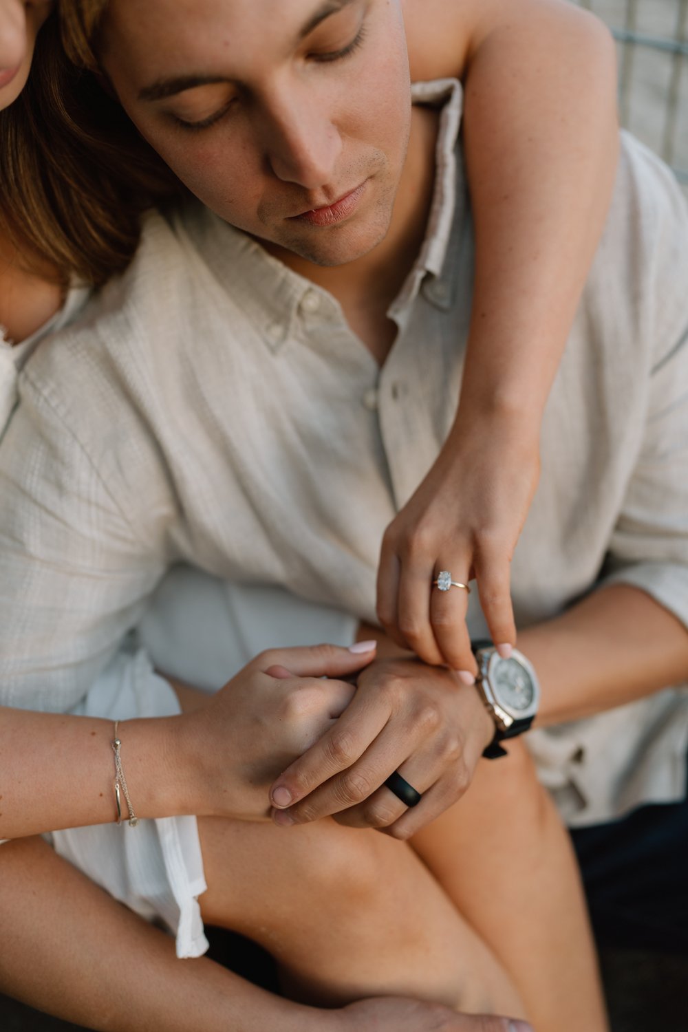
{"type": "Polygon", "coordinates": [[[378,608],[397,641],[469,675],[465,599],[433,592],[428,618],[427,585],[477,576],[493,640],[514,644],[511,556],[614,185],[616,59],[601,23],[559,0],[406,0],[404,17],[412,76],[464,80],[476,281],[456,422],[388,529],[378,608]]]}

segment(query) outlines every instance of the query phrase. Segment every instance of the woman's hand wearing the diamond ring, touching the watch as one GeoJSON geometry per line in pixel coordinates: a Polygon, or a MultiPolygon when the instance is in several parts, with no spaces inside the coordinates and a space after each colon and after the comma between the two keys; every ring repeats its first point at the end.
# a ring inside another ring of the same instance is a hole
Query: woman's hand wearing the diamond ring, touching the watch
{"type": "Polygon", "coordinates": [[[397,644],[471,683],[468,592],[433,585],[447,570],[462,584],[476,578],[490,637],[509,654],[516,644],[510,565],[538,476],[536,430],[519,432],[494,415],[457,422],[383,539],[378,616],[397,644]]]}

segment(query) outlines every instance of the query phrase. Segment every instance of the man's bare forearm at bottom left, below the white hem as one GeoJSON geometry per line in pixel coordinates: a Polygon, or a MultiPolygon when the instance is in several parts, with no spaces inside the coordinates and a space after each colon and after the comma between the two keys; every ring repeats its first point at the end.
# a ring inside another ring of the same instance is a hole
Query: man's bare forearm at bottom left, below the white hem
{"type": "Polygon", "coordinates": [[[103,1032],[321,1032],[280,999],[117,903],[42,839],[0,846],[0,991],[103,1032]]]}

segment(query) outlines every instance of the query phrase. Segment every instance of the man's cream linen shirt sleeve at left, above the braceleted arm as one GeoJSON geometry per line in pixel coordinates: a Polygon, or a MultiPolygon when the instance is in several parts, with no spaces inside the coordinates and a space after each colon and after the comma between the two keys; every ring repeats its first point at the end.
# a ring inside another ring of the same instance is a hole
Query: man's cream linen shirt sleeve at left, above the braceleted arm
{"type": "MultiPolygon", "coordinates": [[[[140,471],[140,443],[108,448],[99,434],[105,446],[94,457],[67,410],[29,378],[0,444],[5,706],[67,711],[79,703],[123,648],[166,566],[160,491],[152,480],[137,502],[140,476],[128,475],[128,463],[140,471]],[[149,518],[139,528],[141,506],[149,518]]],[[[111,417],[109,444],[117,419],[103,411],[111,417]]],[[[121,669],[130,676],[127,660],[121,669]]]]}

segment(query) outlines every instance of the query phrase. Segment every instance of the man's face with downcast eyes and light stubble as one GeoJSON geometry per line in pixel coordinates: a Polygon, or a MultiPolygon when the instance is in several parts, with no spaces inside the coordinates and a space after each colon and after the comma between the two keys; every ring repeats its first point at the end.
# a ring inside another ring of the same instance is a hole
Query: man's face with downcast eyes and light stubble
{"type": "Polygon", "coordinates": [[[387,232],[408,140],[398,0],[110,0],[121,102],[227,222],[321,265],[387,232]]]}

